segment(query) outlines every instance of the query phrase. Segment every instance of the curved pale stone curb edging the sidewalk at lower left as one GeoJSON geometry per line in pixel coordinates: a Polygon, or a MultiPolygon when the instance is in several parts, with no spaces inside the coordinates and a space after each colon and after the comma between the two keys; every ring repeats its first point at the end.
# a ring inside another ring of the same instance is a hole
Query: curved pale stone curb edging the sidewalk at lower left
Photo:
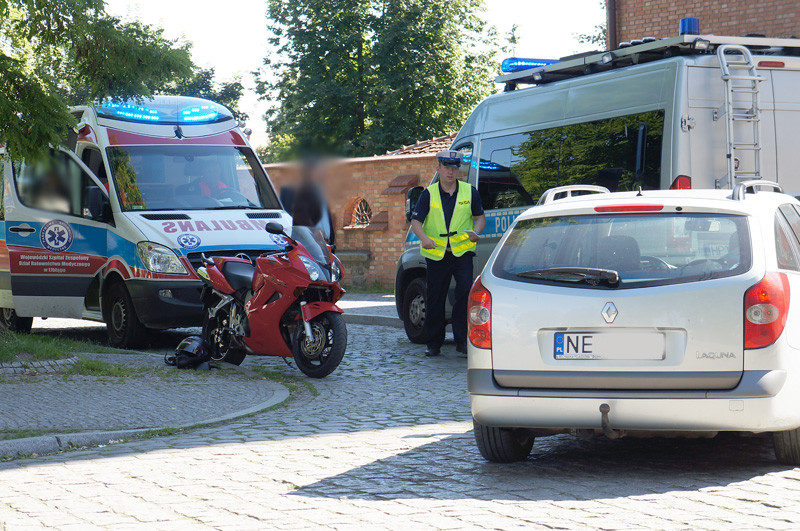
{"type": "MultiPolygon", "coordinates": [[[[278,383],[278,382],[276,382],[278,383]]],[[[136,437],[143,433],[152,432],[162,429],[185,429],[197,428],[207,426],[209,424],[216,424],[228,420],[237,419],[253,413],[258,413],[267,408],[285,402],[291,395],[289,390],[283,384],[280,384],[282,389],[275,392],[269,400],[256,404],[255,406],[235,411],[228,415],[205,419],[199,422],[191,422],[189,424],[179,424],[174,426],[154,426],[152,428],[138,428],[132,430],[113,430],[113,431],[88,431],[77,433],[57,433],[51,435],[40,435],[38,437],[25,437],[22,439],[10,439],[7,441],[0,441],[0,456],[25,456],[29,454],[51,454],[61,450],[66,450],[71,447],[92,446],[98,444],[108,444],[111,442],[119,441],[136,437]]]]}

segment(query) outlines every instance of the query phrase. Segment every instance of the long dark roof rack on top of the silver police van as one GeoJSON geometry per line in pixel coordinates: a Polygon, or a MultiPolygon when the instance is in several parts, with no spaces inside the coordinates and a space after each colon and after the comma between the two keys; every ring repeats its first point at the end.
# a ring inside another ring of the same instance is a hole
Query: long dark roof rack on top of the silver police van
{"type": "Polygon", "coordinates": [[[718,46],[736,44],[765,55],[800,56],[800,39],[773,39],[766,37],[723,37],[717,35],[681,35],[617,48],[606,52],[578,54],[565,57],[551,65],[529,68],[495,78],[505,83],[505,91],[515,90],[518,84],[541,85],[625,66],[666,59],[677,55],[705,55],[716,53],[718,46]]]}

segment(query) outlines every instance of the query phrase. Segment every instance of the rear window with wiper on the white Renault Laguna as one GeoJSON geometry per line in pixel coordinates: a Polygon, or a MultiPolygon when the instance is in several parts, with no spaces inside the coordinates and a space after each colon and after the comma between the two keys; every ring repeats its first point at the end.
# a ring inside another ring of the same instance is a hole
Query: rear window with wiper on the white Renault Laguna
{"type": "Polygon", "coordinates": [[[492,272],[522,282],[620,289],[729,277],[750,264],[745,216],[581,215],[519,221],[492,272]]]}

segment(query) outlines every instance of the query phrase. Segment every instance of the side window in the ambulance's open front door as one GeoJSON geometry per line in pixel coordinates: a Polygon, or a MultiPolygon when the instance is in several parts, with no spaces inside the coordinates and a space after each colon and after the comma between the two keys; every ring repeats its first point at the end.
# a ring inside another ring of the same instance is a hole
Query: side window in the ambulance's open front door
{"type": "Polygon", "coordinates": [[[95,182],[66,153],[50,152],[35,164],[23,164],[17,177],[17,194],[25,206],[90,217],[89,189],[95,182]]]}

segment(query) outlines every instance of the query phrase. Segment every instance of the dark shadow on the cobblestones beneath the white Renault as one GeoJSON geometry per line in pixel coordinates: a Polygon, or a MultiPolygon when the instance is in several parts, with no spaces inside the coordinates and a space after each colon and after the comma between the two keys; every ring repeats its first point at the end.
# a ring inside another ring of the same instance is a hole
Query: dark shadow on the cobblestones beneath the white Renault
{"type": "Polygon", "coordinates": [[[483,460],[468,432],[292,494],[363,500],[597,500],[695,492],[787,469],[775,461],[766,436],[585,441],[562,435],[537,439],[524,462],[495,464],[483,460]]]}

